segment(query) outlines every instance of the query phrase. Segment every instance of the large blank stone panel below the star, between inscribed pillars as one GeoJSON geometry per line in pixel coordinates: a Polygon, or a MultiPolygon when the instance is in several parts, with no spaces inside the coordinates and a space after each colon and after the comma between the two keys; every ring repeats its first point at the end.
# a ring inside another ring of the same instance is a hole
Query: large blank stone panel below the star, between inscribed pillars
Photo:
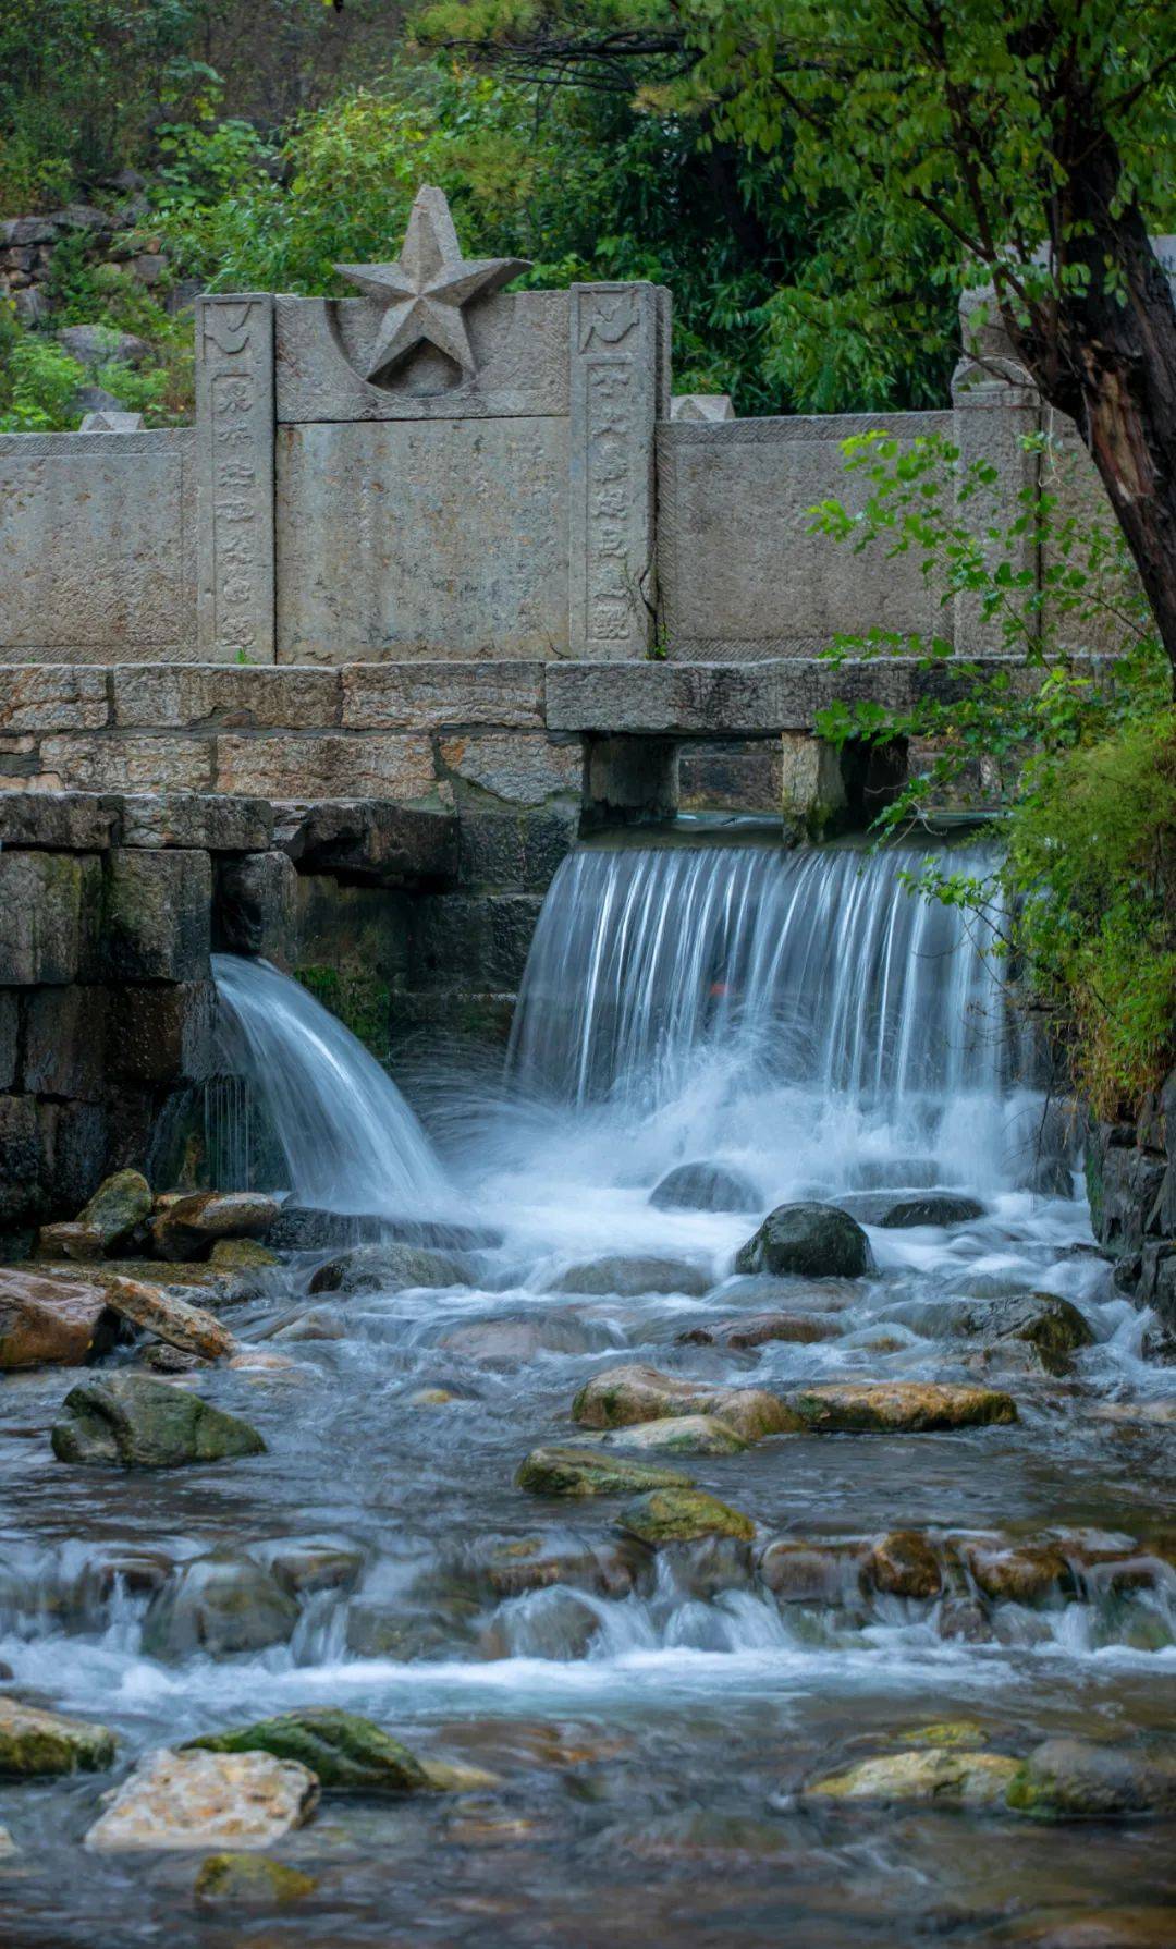
{"type": "Polygon", "coordinates": [[[278,427],[278,663],[565,649],[567,425],[278,427]]]}

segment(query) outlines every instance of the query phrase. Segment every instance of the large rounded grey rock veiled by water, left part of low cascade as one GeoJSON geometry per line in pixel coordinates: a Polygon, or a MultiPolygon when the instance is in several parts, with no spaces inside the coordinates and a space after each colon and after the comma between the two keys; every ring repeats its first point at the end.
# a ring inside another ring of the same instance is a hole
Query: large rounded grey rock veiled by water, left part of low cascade
{"type": "Polygon", "coordinates": [[[142,1649],[148,1659],[265,1651],[288,1641],[298,1616],[296,1600],[259,1563],[214,1551],[185,1563],[156,1592],[142,1624],[142,1649]]]}

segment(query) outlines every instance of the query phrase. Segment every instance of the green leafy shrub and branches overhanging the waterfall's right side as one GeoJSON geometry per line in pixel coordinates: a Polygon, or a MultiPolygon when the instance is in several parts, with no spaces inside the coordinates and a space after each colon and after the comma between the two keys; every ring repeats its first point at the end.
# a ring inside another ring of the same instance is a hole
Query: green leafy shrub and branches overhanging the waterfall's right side
{"type": "Polygon", "coordinates": [[[1133,1113],[1176,1060],[1176,709],[1121,538],[1081,511],[1073,456],[1046,437],[1024,442],[1038,478],[1011,518],[993,507],[995,470],[964,466],[944,439],[845,444],[855,499],[814,509],[814,532],[913,555],[942,608],[970,600],[983,655],[935,631],[837,637],[835,665],[915,659],[925,694],[909,709],[837,704],[818,729],[919,754],[878,815],[880,844],[987,793],[1001,865],[977,881],[929,858],[915,887],[1012,916],[1001,951],[1077,1082],[1100,1113],[1133,1113]]]}

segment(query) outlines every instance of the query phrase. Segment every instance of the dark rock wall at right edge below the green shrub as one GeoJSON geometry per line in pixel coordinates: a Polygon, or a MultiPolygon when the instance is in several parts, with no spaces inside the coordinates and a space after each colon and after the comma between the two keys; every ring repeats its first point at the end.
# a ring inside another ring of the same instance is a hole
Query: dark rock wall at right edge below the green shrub
{"type": "Polygon", "coordinates": [[[1176,1070],[1137,1123],[1092,1123],[1086,1193],[1116,1284],[1176,1333],[1176,1070]]]}

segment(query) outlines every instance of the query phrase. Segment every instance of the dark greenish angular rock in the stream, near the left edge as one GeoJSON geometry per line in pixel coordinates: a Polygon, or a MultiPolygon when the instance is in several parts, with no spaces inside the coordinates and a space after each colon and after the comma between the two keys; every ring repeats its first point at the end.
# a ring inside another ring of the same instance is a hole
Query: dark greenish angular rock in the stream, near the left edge
{"type": "Polygon", "coordinates": [[[257,1429],[187,1388],[146,1374],[103,1374],[70,1388],[53,1425],[58,1462],[183,1468],[265,1454],[257,1429]]]}

